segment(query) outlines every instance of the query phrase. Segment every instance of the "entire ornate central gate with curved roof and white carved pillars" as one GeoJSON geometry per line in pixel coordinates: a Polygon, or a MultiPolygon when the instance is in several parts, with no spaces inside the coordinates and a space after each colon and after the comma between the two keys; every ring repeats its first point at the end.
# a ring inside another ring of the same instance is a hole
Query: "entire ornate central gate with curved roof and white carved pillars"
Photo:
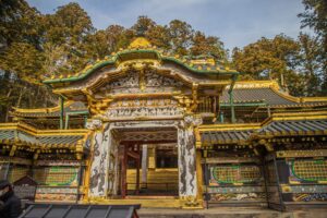
{"type": "Polygon", "coordinates": [[[124,192],[119,173],[123,138],[114,133],[168,128],[177,132],[179,197],[189,206],[199,205],[197,171],[202,169],[196,165],[194,130],[202,116],[197,106],[203,104],[210,119],[217,117],[219,95],[238,72],[213,61],[199,63],[208,64],[206,70],[185,61],[164,55],[138,37],[129,49],[106,57],[78,76],[45,82],[53,93],[88,106],[92,118],[87,129],[93,134],[85,175],[88,202],[116,198],[119,189],[124,192]]]}

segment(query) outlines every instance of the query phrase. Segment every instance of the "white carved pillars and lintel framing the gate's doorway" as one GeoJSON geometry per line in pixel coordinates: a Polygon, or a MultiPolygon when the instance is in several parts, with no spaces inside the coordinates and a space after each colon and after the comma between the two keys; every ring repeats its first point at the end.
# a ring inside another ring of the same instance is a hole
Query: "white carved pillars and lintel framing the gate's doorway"
{"type": "Polygon", "coordinates": [[[186,116],[180,120],[122,121],[101,124],[94,136],[94,159],[90,168],[89,197],[118,195],[120,189],[119,140],[113,130],[173,128],[178,132],[179,196],[197,197],[194,126],[199,119],[186,116]]]}

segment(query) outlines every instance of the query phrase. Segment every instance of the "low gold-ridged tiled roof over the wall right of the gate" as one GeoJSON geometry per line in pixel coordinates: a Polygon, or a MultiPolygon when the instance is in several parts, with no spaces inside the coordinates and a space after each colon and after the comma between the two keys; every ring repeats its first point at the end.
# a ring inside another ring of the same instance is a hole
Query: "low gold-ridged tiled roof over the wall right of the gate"
{"type": "Polygon", "coordinates": [[[275,114],[263,123],[232,123],[199,129],[202,146],[250,144],[252,138],[327,134],[327,112],[275,114]]]}

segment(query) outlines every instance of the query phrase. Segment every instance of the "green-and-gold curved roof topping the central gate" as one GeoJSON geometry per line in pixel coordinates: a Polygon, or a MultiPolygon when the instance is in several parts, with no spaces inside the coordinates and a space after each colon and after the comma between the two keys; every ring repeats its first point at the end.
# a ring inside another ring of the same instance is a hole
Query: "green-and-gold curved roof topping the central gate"
{"type": "Polygon", "coordinates": [[[177,64],[195,74],[239,74],[237,71],[230,70],[229,68],[225,68],[220,63],[215,62],[214,59],[192,60],[186,57],[173,56],[152,46],[144,37],[138,37],[132,41],[128,49],[121,49],[117,53],[113,52],[110,56],[107,56],[104,60],[98,60],[95,64],[87,65],[80,73],[69,74],[66,76],[52,75],[51,78],[46,78],[43,83],[55,84],[80,81],[107,65],[117,66],[121,62],[129,60],[157,60],[161,63],[177,64]]]}

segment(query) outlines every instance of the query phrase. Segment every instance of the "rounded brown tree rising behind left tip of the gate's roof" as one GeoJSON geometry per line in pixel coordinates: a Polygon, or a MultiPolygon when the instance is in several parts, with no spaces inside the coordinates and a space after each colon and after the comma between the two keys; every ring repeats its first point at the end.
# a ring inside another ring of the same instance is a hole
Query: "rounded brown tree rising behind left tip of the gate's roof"
{"type": "Polygon", "coordinates": [[[44,25],[44,41],[60,46],[64,51],[57,62],[60,72],[56,73],[81,71],[93,56],[86,49],[87,37],[95,31],[87,13],[77,3],[69,3],[59,7],[55,14],[46,15],[44,25]]]}

